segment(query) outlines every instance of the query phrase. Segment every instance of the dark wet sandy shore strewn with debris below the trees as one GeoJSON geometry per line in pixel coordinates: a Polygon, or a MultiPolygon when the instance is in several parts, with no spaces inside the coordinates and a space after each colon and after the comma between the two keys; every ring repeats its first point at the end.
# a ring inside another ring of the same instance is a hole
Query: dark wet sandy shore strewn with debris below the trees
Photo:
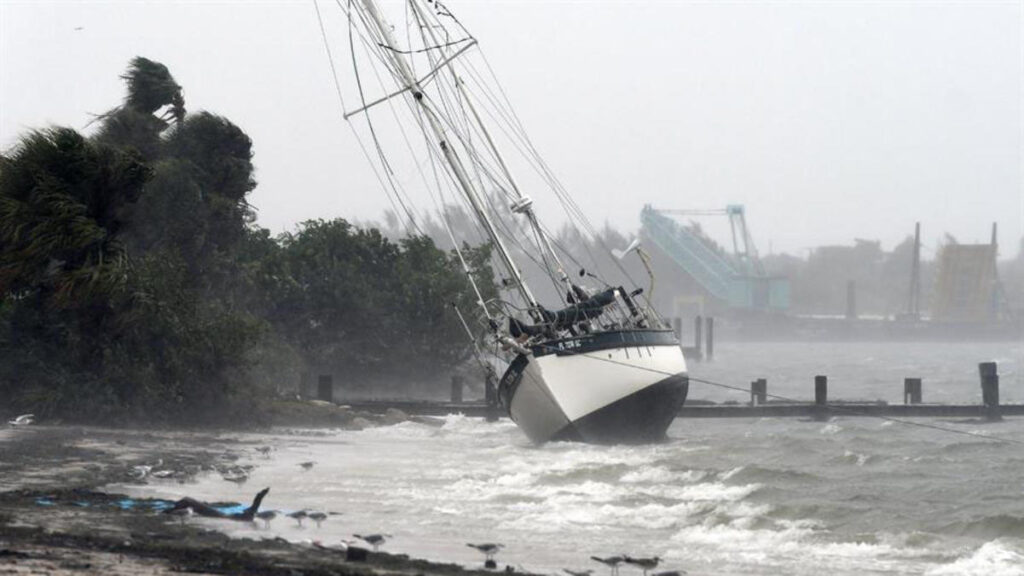
{"type": "MultiPolygon", "coordinates": [[[[315,431],[295,434],[315,434],[315,431]]],[[[97,427],[0,428],[0,575],[6,574],[485,574],[338,542],[228,538],[210,522],[179,522],[145,500],[101,491],[144,483],[133,466],[163,460],[174,479],[229,467],[256,448],[230,433],[97,427]]],[[[245,505],[260,487],[239,488],[245,505]]],[[[272,491],[272,487],[271,487],[272,491]]],[[[493,572],[492,572],[493,573],[493,572]]]]}

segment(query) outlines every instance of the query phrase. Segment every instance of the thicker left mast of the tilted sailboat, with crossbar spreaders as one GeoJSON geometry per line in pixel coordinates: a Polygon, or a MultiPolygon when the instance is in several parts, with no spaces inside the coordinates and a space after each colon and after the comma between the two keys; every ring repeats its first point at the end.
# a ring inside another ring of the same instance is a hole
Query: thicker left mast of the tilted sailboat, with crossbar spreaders
{"type": "Polygon", "coordinates": [[[484,231],[486,231],[487,236],[490,238],[490,241],[495,244],[495,249],[497,250],[502,263],[505,264],[505,268],[512,277],[512,281],[515,283],[517,290],[526,301],[526,304],[530,310],[530,314],[534,315],[535,318],[539,317],[538,303],[534,298],[534,294],[530,292],[529,287],[526,286],[526,283],[522,278],[522,274],[512,260],[508,248],[505,247],[505,243],[502,242],[502,239],[498,236],[494,222],[490,221],[490,217],[484,209],[479,194],[470,182],[469,176],[466,173],[466,168],[462,165],[462,161],[459,159],[455,150],[449,146],[444,128],[441,126],[441,123],[434,114],[434,111],[430,106],[428,106],[423,87],[420,85],[419,81],[417,81],[409,63],[406,61],[406,58],[401,53],[401,49],[391,32],[391,27],[384,20],[383,16],[381,16],[375,0],[362,0],[362,6],[366,8],[367,14],[370,16],[370,19],[373,20],[378,34],[384,41],[384,44],[382,45],[384,53],[386,54],[386,57],[391,60],[397,79],[401,82],[402,86],[412,93],[416,105],[420,107],[424,116],[427,118],[427,123],[430,125],[430,130],[433,132],[437,147],[440,149],[441,154],[443,155],[449,166],[452,167],[452,173],[455,176],[456,181],[459,183],[459,188],[462,190],[463,195],[465,195],[466,199],[469,201],[477,219],[479,219],[484,231]]]}

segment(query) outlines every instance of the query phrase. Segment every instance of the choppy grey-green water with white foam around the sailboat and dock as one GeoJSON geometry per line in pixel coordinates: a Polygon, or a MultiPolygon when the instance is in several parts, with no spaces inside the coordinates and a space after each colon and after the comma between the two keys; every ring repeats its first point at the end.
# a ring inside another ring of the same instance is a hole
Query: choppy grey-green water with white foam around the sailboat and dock
{"type": "MultiPolygon", "coordinates": [[[[1020,365],[1021,348],[1004,347],[974,351],[970,362],[952,352],[925,351],[907,360],[920,370],[915,374],[902,374],[884,358],[877,361],[884,370],[871,368],[863,358],[870,353],[866,344],[831,354],[834,366],[859,366],[851,374],[885,382],[878,390],[898,383],[894,401],[903,375],[925,378],[926,400],[934,389],[935,397],[970,401],[973,390],[929,388],[938,378],[924,370],[954,372],[954,365],[968,364],[965,386],[976,386],[978,361],[1005,353],[1005,375],[1014,372],[1007,364],[1020,365]],[[895,373],[898,382],[890,382],[895,373]]],[[[752,352],[746,362],[759,355],[770,362],[762,373],[742,377],[785,370],[799,375],[796,359],[805,351],[785,349],[752,352]]],[[[732,354],[723,348],[718,363],[695,365],[692,372],[738,370],[738,362],[724,365],[732,354]]],[[[859,396],[888,397],[866,389],[859,396]]],[[[1019,389],[1007,392],[1004,398],[1013,398],[1019,389]]],[[[915,421],[1024,443],[1024,418],[915,421]]],[[[352,533],[384,532],[393,535],[388,550],[475,565],[482,559],[465,543],[497,541],[507,546],[498,557],[502,564],[548,573],[593,568],[600,576],[606,569],[591,554],[625,552],[657,554],[665,559],[659,569],[690,574],[1024,575],[1024,444],[851,417],[679,419],[669,433],[672,441],[657,446],[534,447],[509,422],[452,416],[439,428],[407,422],[322,437],[253,435],[246,440],[276,450],[269,459],[253,453],[257,468],[241,489],[211,476],[195,485],[134,490],[248,499],[270,486],[265,507],[343,513],[321,529],[299,529],[283,519],[269,530],[203,522],[238,535],[327,544],[352,533]],[[298,463],[305,460],[317,464],[302,471],[298,463]]],[[[623,576],[634,573],[622,569],[623,576]]]]}

